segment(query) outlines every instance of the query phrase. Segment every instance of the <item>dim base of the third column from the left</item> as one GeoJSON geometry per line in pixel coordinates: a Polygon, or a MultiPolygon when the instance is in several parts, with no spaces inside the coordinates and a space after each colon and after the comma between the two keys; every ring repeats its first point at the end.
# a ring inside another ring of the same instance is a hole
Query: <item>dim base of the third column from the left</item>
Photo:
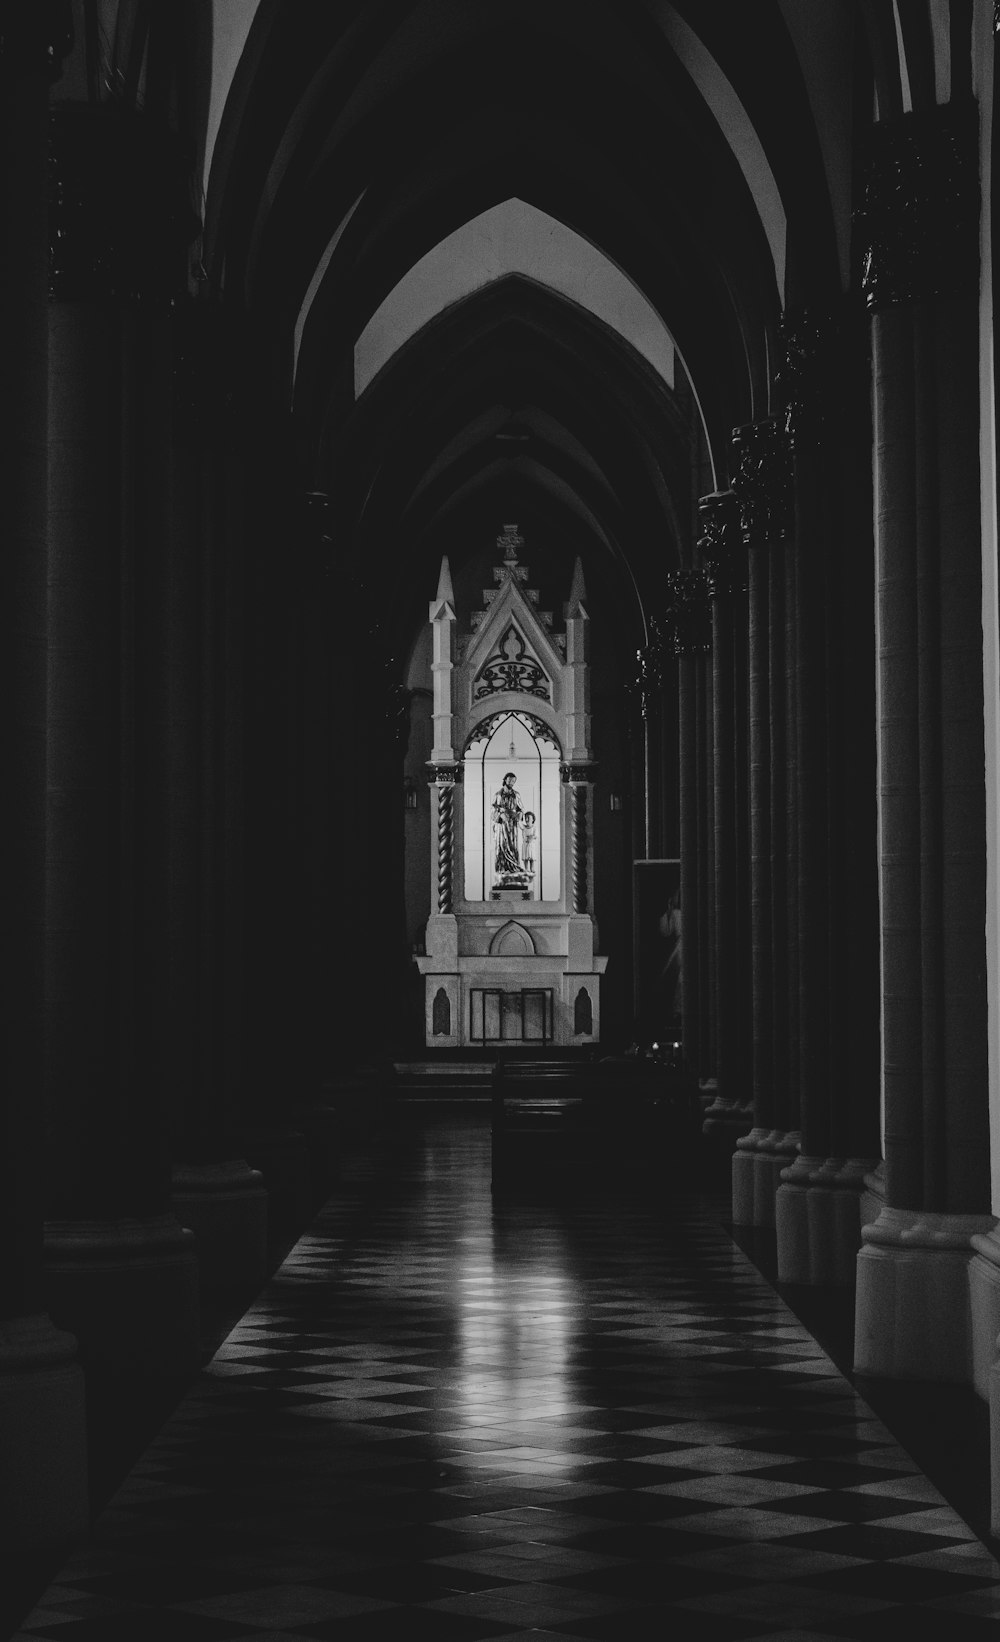
{"type": "Polygon", "coordinates": [[[250,1299],[268,1276],[268,1194],[241,1158],[174,1166],[171,1209],[195,1235],[205,1294],[250,1299]]]}

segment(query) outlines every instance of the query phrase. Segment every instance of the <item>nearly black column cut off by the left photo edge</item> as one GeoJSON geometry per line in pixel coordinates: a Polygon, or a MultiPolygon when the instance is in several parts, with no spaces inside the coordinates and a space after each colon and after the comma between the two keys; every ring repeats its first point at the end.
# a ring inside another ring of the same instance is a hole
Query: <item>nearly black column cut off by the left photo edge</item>
{"type": "Polygon", "coordinates": [[[49,79],[67,33],[8,8],[0,46],[0,667],[5,724],[3,1076],[0,1079],[0,1520],[8,1555],[69,1545],[87,1524],[84,1374],[46,1310],[46,151],[49,79]]]}

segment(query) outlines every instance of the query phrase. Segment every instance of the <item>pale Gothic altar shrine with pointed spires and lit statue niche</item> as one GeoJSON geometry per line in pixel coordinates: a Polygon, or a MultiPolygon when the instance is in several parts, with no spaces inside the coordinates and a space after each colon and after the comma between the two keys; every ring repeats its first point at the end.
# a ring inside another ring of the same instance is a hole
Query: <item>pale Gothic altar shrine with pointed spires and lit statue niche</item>
{"type": "Polygon", "coordinates": [[[447,558],[430,601],[435,910],[415,959],[429,1048],[599,1038],[583,568],[557,632],[522,547],[504,525],[496,586],[466,634],[447,558]]]}

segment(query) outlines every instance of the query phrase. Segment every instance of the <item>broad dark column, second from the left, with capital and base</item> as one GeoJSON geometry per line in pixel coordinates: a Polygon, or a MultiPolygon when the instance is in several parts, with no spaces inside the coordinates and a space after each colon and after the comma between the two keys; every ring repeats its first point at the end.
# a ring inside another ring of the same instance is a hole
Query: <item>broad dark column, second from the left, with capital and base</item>
{"type": "Polygon", "coordinates": [[[141,1041],[135,509],[146,315],[184,271],[184,179],[166,133],[120,110],[61,107],[49,156],[46,1294],[89,1366],[159,1378],[197,1361],[197,1256],[141,1041]]]}

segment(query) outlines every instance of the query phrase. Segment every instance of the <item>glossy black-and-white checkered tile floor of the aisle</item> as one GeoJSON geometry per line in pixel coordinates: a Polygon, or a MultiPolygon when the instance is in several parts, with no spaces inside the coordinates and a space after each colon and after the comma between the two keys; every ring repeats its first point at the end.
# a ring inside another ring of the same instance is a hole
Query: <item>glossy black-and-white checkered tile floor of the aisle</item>
{"type": "Polygon", "coordinates": [[[360,1159],[20,1639],[993,1637],[1000,1566],[675,1194],[360,1159]]]}

